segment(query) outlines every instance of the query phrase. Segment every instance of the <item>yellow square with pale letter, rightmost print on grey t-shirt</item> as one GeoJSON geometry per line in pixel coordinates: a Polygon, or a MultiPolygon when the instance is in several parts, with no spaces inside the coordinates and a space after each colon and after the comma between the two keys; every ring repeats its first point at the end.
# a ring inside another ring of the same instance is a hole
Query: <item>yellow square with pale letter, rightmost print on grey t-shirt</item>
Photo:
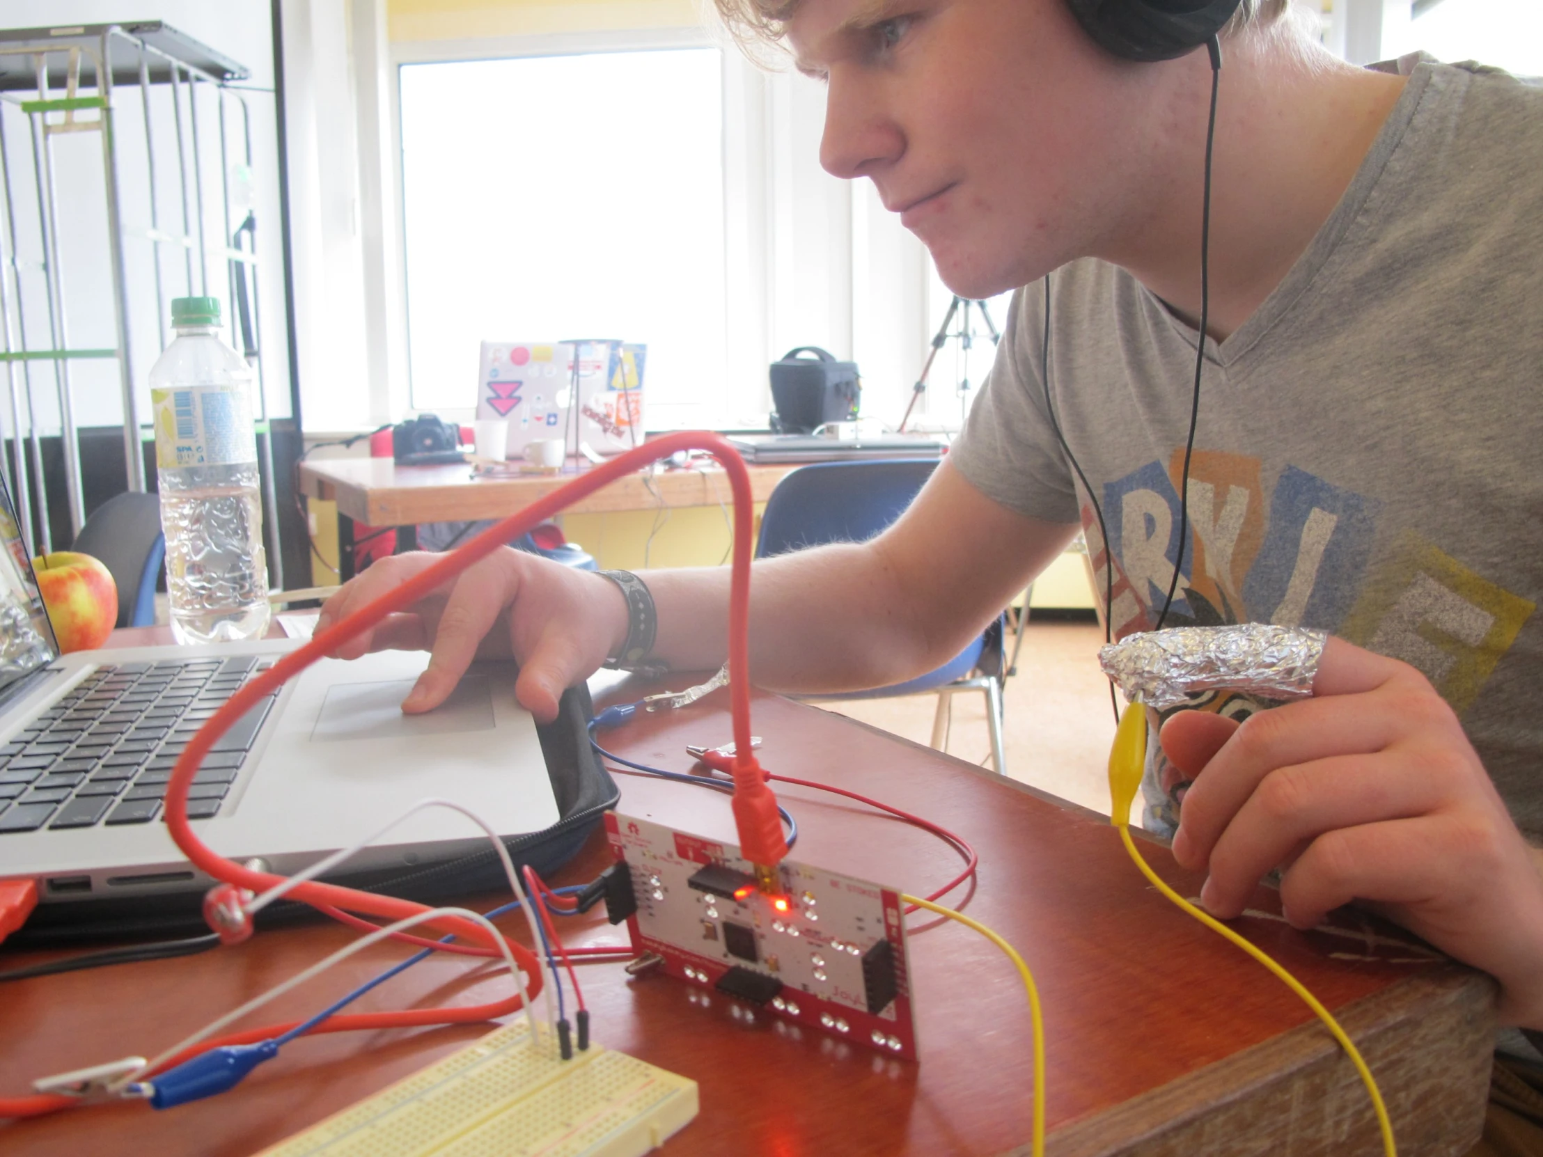
{"type": "Polygon", "coordinates": [[[1535,609],[1406,532],[1338,634],[1418,668],[1461,716],[1535,609]]]}

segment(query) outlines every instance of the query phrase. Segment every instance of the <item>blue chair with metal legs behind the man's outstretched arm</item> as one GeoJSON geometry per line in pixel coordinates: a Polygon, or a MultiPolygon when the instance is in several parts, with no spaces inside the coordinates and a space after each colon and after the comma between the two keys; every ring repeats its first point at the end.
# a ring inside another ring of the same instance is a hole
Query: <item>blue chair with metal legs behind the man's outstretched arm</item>
{"type": "MultiPolygon", "coordinates": [[[[788,474],[772,491],[761,515],[756,557],[768,558],[824,543],[861,543],[893,523],[937,469],[935,458],[830,461],[788,474]]],[[[941,750],[949,700],[960,691],[986,696],[991,759],[1006,774],[1001,745],[1001,619],[971,642],[955,659],[904,683],[812,699],[889,699],[937,693],[932,747],[941,750]]]]}

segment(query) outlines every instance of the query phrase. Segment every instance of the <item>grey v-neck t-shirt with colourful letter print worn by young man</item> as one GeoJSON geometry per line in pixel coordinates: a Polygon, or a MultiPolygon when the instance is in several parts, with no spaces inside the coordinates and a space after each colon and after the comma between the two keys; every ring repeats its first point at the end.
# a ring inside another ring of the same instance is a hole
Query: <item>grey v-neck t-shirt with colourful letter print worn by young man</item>
{"type": "MultiPolygon", "coordinates": [[[[1412,663],[1543,842],[1543,89],[1398,63],[1409,82],[1329,221],[1236,333],[1205,342],[1168,625],[1315,626],[1412,663]]],[[[950,460],[1009,509],[1080,521],[1103,599],[1048,353],[1108,526],[1114,629],[1151,629],[1197,333],[1102,261],[1057,270],[1049,293],[1048,350],[1043,284],[1015,295],[950,460]]],[[[1159,830],[1183,787],[1168,771],[1148,791],[1159,830]]]]}

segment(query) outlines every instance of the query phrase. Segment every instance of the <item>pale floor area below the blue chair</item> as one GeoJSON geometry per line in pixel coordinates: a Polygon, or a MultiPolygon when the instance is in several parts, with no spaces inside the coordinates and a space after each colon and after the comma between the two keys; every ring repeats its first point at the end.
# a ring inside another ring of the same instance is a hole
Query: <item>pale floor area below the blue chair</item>
{"type": "MultiPolygon", "coordinates": [[[[1099,671],[1102,645],[1103,629],[1096,623],[1031,622],[1018,673],[1006,685],[1003,740],[1009,776],[1108,815],[1114,711],[1109,683],[1099,671]]],[[[822,707],[926,744],[937,696],[822,707]]],[[[947,751],[974,764],[991,764],[983,694],[954,696],[947,751]]]]}

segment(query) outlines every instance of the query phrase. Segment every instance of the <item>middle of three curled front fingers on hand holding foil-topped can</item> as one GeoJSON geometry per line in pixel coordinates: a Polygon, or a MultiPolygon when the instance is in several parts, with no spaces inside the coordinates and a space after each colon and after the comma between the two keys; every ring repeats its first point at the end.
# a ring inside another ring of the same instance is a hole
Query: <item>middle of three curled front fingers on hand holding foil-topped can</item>
{"type": "Polygon", "coordinates": [[[1261,781],[1211,850],[1205,907],[1231,919],[1259,879],[1335,828],[1435,811],[1449,796],[1440,776],[1410,774],[1393,754],[1336,756],[1282,767],[1261,781]]]}

